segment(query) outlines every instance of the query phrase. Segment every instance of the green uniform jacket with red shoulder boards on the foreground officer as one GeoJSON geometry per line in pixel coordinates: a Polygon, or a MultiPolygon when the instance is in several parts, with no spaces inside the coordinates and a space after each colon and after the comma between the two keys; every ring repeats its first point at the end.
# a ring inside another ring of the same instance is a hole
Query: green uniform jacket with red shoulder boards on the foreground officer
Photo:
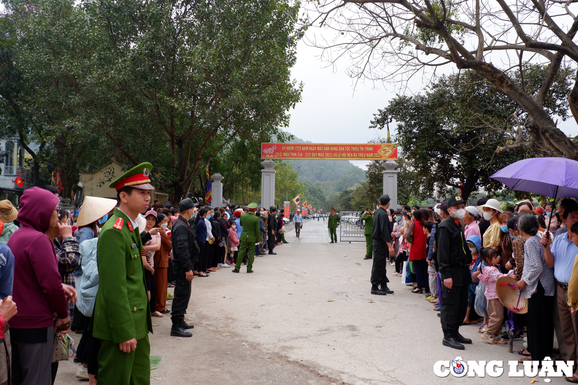
{"type": "MultiPolygon", "coordinates": [[[[130,230],[131,220],[118,209],[98,236],[98,292],[92,312],[95,338],[121,343],[141,339],[153,332],[150,305],[144,282],[140,232],[130,230]],[[119,230],[113,226],[123,219],[119,230]]],[[[132,227],[132,225],[131,225],[132,227]]]]}

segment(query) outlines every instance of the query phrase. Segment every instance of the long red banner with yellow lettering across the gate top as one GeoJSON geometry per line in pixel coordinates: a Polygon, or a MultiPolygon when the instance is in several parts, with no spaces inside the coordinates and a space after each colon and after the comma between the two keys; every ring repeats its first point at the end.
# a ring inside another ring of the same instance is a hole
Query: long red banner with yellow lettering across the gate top
{"type": "Polygon", "coordinates": [[[393,143],[261,143],[263,159],[397,159],[393,143]]]}

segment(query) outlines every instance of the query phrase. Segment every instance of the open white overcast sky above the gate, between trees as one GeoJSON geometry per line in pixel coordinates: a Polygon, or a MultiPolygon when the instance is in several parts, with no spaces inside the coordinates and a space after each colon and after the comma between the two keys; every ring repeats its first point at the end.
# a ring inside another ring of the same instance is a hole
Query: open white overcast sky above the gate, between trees
{"type": "MultiPolygon", "coordinates": [[[[354,79],[346,74],[349,64],[346,60],[336,68],[324,68],[325,63],[318,58],[320,54],[320,49],[305,45],[303,40],[299,42],[297,64],[291,73],[294,79],[303,82],[302,101],[290,110],[291,122],[284,131],[313,143],[366,143],[378,135],[386,138],[387,132],[369,129],[369,121],[399,90],[392,84],[371,82],[359,82],[354,87],[354,79]]],[[[444,70],[451,72],[453,68],[448,65],[444,70]]],[[[420,92],[424,86],[422,79],[416,77],[405,92],[420,92]]],[[[558,127],[566,134],[578,135],[572,118],[558,127]]],[[[395,124],[390,124],[390,131],[394,135],[395,124]]],[[[367,162],[351,163],[365,169],[367,162]]]]}

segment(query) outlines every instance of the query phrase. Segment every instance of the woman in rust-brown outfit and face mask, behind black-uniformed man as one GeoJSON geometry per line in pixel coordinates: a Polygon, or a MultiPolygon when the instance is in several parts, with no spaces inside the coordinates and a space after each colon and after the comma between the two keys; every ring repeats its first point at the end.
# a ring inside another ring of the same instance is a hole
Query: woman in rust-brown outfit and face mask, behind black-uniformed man
{"type": "Polygon", "coordinates": [[[167,268],[169,266],[169,253],[173,249],[171,238],[166,234],[169,224],[169,217],[165,214],[157,214],[158,235],[161,237],[160,250],[154,253],[154,287],[155,298],[151,298],[151,310],[156,309],[158,313],[166,314],[171,310],[166,308],[166,287],[168,284],[167,268]],[[154,307],[153,307],[154,305],[154,307]]]}

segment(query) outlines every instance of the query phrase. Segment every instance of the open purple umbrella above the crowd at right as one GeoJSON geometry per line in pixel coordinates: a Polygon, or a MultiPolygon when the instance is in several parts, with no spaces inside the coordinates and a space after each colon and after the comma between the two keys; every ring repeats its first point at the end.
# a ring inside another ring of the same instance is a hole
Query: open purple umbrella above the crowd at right
{"type": "Polygon", "coordinates": [[[491,178],[510,190],[546,195],[578,197],[578,161],[568,158],[529,158],[514,162],[491,178]]]}

